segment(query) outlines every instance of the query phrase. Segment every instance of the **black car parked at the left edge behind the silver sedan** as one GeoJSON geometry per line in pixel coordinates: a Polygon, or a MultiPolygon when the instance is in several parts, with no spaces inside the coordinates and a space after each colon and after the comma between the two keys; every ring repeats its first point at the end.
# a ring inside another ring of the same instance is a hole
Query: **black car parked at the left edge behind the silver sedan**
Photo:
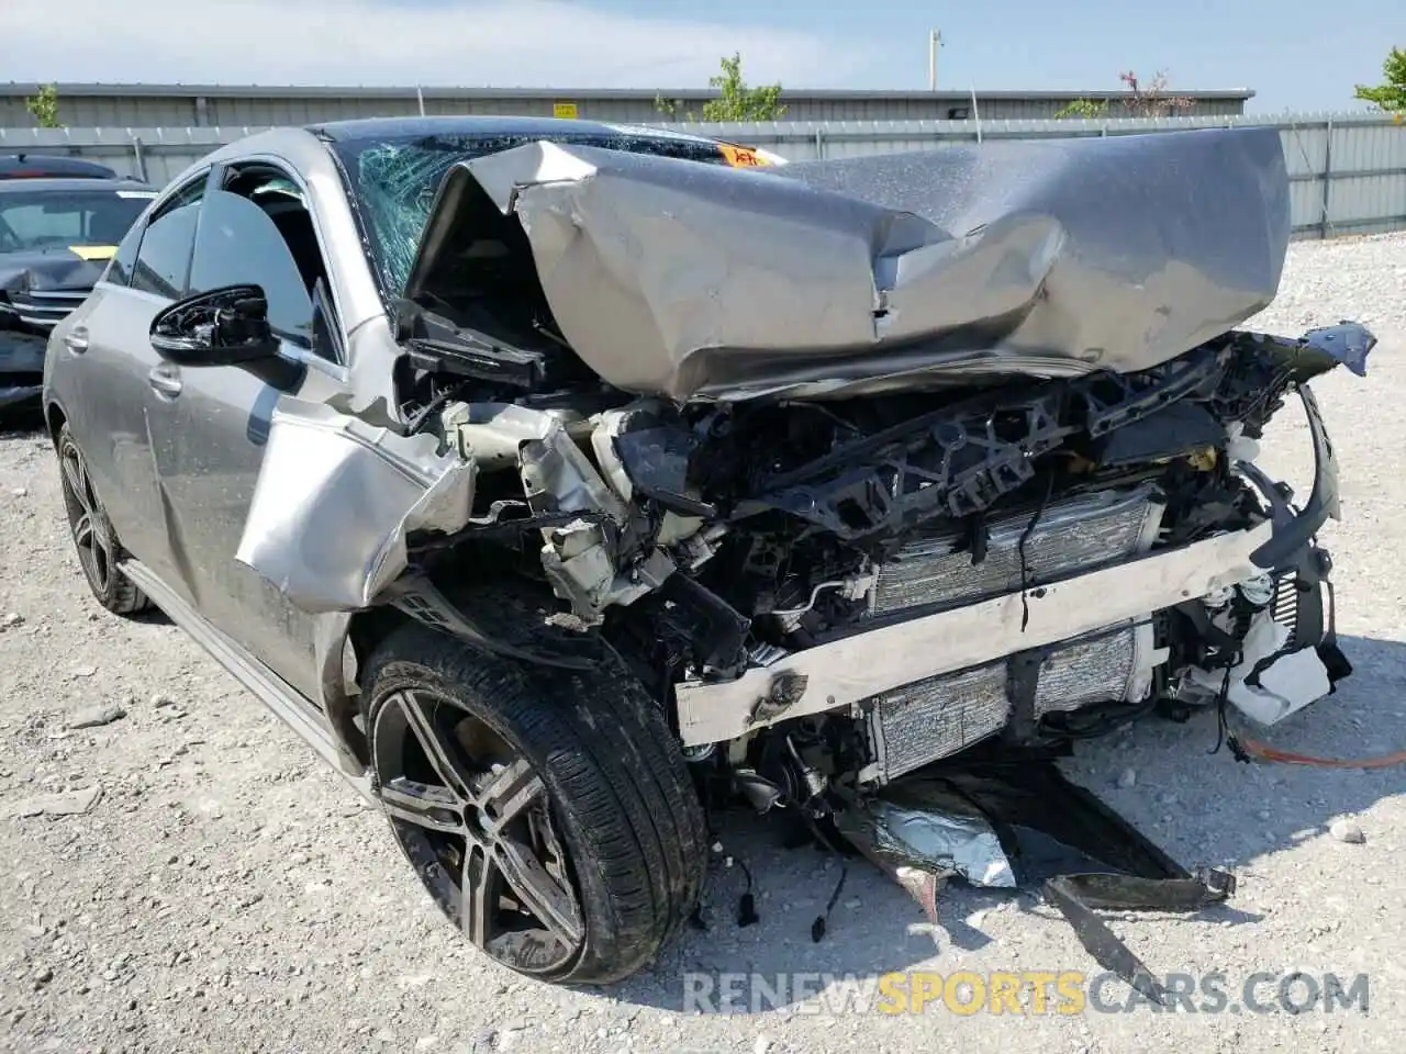
{"type": "Polygon", "coordinates": [[[77,157],[0,157],[0,410],[39,395],[53,325],[156,195],[77,157]]]}

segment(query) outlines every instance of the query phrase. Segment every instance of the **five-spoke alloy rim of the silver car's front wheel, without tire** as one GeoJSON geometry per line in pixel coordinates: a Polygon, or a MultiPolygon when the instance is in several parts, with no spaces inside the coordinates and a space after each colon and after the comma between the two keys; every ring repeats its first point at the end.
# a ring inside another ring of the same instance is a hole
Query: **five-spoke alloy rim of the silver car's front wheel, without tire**
{"type": "Polygon", "coordinates": [[[374,708],[371,753],[391,828],[440,909],[524,974],[560,971],[585,940],[551,798],[522,752],[422,689],[374,708]]]}

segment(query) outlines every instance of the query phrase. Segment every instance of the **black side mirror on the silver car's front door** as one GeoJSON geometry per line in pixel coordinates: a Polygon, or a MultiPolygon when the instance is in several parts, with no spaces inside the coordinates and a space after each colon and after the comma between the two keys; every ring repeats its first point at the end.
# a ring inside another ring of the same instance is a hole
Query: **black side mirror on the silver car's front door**
{"type": "Polygon", "coordinates": [[[229,285],[177,301],[152,319],[150,337],[156,354],[181,367],[280,358],[269,301],[257,285],[229,285]]]}

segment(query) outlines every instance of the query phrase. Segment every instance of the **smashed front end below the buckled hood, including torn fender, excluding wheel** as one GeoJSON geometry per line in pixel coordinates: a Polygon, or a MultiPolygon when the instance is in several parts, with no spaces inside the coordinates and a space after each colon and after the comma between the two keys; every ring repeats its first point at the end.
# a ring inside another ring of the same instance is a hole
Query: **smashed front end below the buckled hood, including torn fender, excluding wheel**
{"type": "Polygon", "coordinates": [[[807,739],[887,783],[1152,705],[1272,722],[1344,672],[1315,542],[1337,471],[1308,381],[1362,372],[1372,343],[1353,323],[1232,333],[1144,374],[935,409],[450,401],[402,437],[285,402],[238,558],[304,610],[395,603],[520,656],[517,630],[446,596],[536,583],[536,659],[609,641],[666,686],[686,749],[775,729],[792,794],[828,784],[793,769],[807,739]],[[1302,506],[1254,464],[1295,393],[1302,506]]]}

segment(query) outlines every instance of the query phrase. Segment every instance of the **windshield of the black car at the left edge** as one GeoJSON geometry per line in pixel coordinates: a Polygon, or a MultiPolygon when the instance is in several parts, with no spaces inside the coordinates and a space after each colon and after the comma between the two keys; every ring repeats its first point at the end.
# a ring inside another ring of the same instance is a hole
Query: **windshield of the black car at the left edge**
{"type": "Polygon", "coordinates": [[[152,191],[25,190],[0,194],[0,253],[115,246],[152,191]]]}

